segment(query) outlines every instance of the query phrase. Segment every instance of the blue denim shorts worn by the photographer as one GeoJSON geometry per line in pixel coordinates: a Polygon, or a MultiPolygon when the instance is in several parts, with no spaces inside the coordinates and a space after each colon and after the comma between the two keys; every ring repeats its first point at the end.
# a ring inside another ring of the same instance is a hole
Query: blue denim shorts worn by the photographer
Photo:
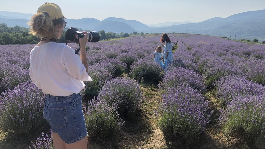
{"type": "Polygon", "coordinates": [[[65,143],[80,141],[87,135],[80,93],[66,97],[47,94],[43,117],[65,143]]]}

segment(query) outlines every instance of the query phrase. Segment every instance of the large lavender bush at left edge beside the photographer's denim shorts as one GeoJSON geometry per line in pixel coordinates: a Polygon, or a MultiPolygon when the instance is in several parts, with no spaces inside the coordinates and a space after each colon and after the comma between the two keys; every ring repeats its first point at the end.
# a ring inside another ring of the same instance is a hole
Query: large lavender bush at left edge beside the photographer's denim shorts
{"type": "Polygon", "coordinates": [[[45,122],[45,95],[32,81],[21,83],[0,96],[0,128],[14,135],[36,131],[45,122]]]}

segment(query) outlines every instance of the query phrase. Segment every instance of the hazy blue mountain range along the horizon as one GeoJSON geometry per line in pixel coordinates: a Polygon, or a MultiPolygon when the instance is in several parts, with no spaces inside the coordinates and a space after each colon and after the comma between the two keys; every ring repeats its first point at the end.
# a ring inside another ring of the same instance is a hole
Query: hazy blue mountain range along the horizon
{"type": "MultiPolygon", "coordinates": [[[[67,27],[76,27],[89,30],[105,30],[115,33],[196,33],[212,36],[226,36],[234,39],[265,40],[265,10],[248,11],[234,14],[226,18],[214,17],[202,22],[165,22],[145,25],[136,20],[126,20],[116,17],[108,17],[102,21],[94,18],[67,19],[67,27]]],[[[19,12],[0,11],[0,23],[14,27],[26,24],[33,14],[19,12]]],[[[173,16],[174,17],[174,16],[173,16]]]]}

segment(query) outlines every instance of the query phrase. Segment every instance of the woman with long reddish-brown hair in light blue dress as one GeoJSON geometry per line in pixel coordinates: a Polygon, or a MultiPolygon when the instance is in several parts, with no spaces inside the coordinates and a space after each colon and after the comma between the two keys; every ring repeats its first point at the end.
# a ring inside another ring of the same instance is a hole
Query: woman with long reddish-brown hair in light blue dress
{"type": "Polygon", "coordinates": [[[173,61],[173,54],[172,54],[172,43],[170,38],[164,33],[160,39],[160,41],[164,44],[164,70],[167,70],[167,66],[172,63],[173,61]]]}

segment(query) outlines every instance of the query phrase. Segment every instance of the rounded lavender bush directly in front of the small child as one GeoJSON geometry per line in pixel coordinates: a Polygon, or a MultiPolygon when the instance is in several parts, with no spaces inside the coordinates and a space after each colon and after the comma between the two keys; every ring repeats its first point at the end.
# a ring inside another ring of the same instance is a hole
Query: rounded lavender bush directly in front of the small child
{"type": "Polygon", "coordinates": [[[129,76],[138,79],[138,81],[160,80],[163,68],[152,60],[140,59],[131,65],[129,76]]]}

